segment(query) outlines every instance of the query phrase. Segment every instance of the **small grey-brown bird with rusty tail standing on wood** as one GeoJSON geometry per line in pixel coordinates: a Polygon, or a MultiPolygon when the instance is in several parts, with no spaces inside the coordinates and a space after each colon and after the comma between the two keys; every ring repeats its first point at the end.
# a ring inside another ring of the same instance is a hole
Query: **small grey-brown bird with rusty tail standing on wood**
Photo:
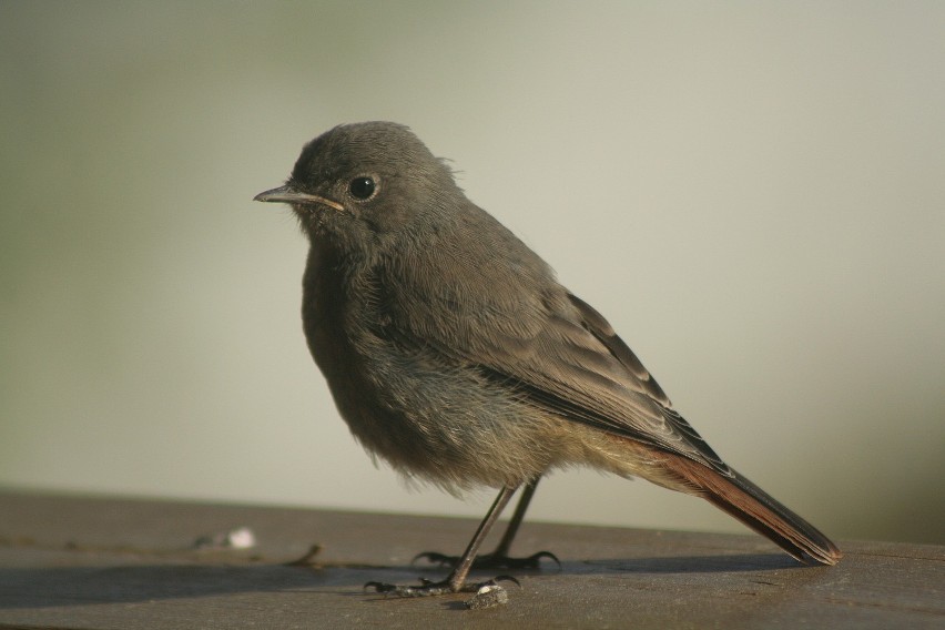
{"type": "MultiPolygon", "coordinates": [[[[284,186],[311,250],[308,347],[355,438],[396,470],[458,492],[499,489],[453,572],[380,592],[471,590],[482,539],[538,479],[586,465],[702,497],[800,561],[833,565],[823,534],[728,466],[673,408],[607,319],[456,185],[404,125],[341,125],[305,145],[284,186]]],[[[448,558],[427,553],[435,560],[448,558]]],[[[478,565],[477,565],[478,566],[478,565]]]]}

